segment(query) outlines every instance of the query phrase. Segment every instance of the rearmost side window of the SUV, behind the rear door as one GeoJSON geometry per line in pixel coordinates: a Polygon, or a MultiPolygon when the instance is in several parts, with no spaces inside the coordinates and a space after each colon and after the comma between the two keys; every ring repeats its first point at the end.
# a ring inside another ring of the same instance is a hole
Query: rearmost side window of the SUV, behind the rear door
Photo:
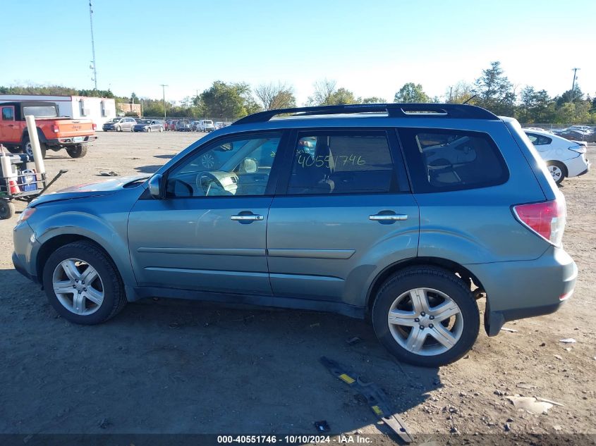
{"type": "Polygon", "coordinates": [[[499,185],[509,171],[486,133],[401,129],[415,192],[442,192],[499,185]]]}

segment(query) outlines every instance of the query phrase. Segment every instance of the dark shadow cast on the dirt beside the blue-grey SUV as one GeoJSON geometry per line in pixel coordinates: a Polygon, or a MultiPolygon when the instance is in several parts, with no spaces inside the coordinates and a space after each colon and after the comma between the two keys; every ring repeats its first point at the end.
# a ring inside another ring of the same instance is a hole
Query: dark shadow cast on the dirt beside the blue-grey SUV
{"type": "Polygon", "coordinates": [[[0,300],[4,433],[316,435],[325,420],[397,440],[320,358],[379,385],[395,413],[442,386],[437,368],[399,364],[368,323],[334,314],[144,299],[79,326],[12,269],[0,300]]]}

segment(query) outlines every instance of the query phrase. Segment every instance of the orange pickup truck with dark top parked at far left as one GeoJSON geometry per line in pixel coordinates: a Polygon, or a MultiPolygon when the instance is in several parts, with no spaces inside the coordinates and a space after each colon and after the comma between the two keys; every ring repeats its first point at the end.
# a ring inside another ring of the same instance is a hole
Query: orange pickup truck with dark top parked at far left
{"type": "Polygon", "coordinates": [[[11,101],[0,103],[0,144],[11,151],[32,155],[26,115],[35,116],[42,156],[46,151],[66,149],[72,158],[87,153],[87,142],[97,140],[97,125],[88,119],[71,119],[59,116],[54,102],[11,101]]]}

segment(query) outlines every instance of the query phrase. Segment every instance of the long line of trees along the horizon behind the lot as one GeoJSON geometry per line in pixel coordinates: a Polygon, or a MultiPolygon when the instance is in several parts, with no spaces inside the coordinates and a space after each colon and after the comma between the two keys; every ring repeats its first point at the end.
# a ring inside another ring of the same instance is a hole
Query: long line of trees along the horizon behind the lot
{"type": "MultiPolygon", "coordinates": [[[[55,94],[108,97],[116,102],[138,104],[142,101],[145,116],[163,116],[162,99],[118,97],[110,90],[73,89],[59,85],[31,85],[1,87],[0,94],[55,94]]],[[[395,94],[394,102],[473,104],[499,116],[513,116],[521,123],[596,123],[596,97],[584,94],[576,85],[559,96],[550,97],[544,90],[528,85],[518,91],[509,81],[498,61],[482,70],[473,83],[457,82],[446,88],[442,97],[430,97],[422,85],[407,82],[395,94]]],[[[313,84],[313,92],[305,105],[375,104],[386,103],[381,97],[357,97],[335,80],[327,78],[313,84]]],[[[179,102],[166,101],[168,116],[187,118],[241,118],[261,110],[296,107],[293,87],[286,82],[269,82],[254,89],[246,82],[223,82],[216,80],[211,87],[196,96],[188,96],[179,102]]]]}

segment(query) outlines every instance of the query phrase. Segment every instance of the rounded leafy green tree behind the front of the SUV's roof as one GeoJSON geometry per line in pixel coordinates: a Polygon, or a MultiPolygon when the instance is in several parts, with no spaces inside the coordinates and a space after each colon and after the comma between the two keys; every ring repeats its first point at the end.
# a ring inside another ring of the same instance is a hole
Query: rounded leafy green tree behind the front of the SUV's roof
{"type": "Polygon", "coordinates": [[[216,80],[201,94],[205,114],[210,118],[241,118],[260,110],[244,82],[226,83],[216,80]]]}

